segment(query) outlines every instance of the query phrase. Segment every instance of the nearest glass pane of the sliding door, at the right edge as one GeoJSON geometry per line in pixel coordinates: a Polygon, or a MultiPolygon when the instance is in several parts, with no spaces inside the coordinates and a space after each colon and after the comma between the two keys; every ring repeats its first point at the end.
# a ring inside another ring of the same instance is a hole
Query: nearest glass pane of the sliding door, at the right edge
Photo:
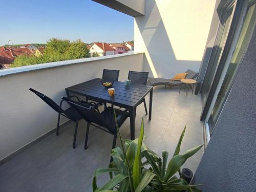
{"type": "Polygon", "coordinates": [[[213,108],[210,109],[211,111],[208,119],[210,135],[214,131],[214,127],[216,125],[218,117],[221,113],[223,105],[232,87],[233,80],[237,74],[238,67],[248,47],[251,34],[255,27],[255,20],[255,1],[250,1],[247,8],[245,20],[241,29],[241,33],[237,41],[236,48],[232,53],[230,62],[227,64],[226,71],[223,71],[225,75],[223,76],[224,78],[222,79],[222,81],[219,82],[221,84],[221,87],[217,94],[217,99],[215,101],[213,108]]]}

